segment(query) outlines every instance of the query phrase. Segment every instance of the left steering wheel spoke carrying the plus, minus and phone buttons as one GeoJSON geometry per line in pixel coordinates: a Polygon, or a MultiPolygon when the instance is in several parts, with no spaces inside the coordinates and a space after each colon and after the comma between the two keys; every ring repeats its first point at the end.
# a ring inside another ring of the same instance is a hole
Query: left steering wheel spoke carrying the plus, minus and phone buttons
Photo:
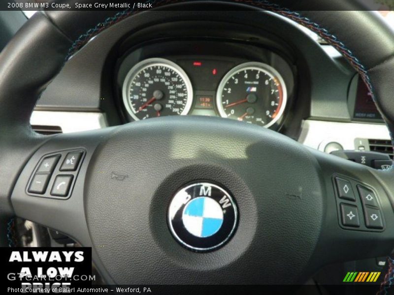
{"type": "Polygon", "coordinates": [[[15,214],[91,246],[83,204],[86,169],[110,129],[60,134],[38,148],[15,184],[15,214]]]}

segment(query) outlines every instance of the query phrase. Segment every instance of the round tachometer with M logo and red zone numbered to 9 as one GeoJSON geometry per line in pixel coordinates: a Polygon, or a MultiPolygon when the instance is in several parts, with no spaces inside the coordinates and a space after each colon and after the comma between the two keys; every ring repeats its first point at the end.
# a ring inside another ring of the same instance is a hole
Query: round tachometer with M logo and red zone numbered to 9
{"type": "Polygon", "coordinates": [[[281,75],[261,62],[246,62],[232,68],[223,77],[216,94],[222,117],[264,127],[279,120],[286,101],[286,86],[281,75]]]}

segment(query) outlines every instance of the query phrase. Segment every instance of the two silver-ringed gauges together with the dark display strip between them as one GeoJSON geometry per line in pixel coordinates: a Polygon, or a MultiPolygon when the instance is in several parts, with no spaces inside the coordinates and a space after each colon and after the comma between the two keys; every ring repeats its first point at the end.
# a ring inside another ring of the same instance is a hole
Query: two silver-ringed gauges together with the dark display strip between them
{"type": "Polygon", "coordinates": [[[144,59],[123,83],[125,108],[135,120],[205,115],[270,127],[287,98],[280,73],[257,61],[144,59]]]}

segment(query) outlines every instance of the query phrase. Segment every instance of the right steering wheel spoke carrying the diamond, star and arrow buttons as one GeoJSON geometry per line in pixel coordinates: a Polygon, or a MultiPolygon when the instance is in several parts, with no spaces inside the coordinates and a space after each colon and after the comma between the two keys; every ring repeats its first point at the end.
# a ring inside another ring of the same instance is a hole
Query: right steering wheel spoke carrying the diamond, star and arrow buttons
{"type": "Polygon", "coordinates": [[[326,209],[316,261],[390,255],[394,245],[391,171],[313,151],[324,177],[326,209]]]}

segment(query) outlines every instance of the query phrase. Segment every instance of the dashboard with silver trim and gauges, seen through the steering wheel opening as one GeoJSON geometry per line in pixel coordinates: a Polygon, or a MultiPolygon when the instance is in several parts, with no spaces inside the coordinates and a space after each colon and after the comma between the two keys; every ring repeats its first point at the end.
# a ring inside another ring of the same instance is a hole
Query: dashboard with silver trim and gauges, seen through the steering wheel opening
{"type": "Polygon", "coordinates": [[[66,62],[31,123],[71,132],[172,115],[242,119],[321,150],[390,139],[338,52],[251,11],[151,12],[103,31],[66,62]]]}

